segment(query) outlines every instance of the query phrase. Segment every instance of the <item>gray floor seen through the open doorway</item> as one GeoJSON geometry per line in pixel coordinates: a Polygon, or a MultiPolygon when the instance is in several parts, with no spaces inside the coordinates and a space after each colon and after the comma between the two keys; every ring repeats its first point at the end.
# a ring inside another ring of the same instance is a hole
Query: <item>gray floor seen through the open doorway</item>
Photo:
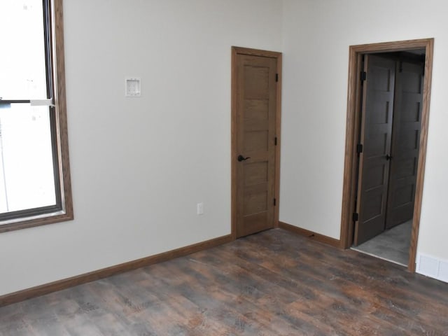
{"type": "Polygon", "coordinates": [[[411,230],[412,221],[407,221],[351,249],[407,266],[411,230]]]}

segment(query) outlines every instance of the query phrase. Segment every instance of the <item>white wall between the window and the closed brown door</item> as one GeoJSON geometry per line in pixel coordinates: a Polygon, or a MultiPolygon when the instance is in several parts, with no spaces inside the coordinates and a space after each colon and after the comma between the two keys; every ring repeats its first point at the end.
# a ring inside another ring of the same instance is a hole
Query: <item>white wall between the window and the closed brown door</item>
{"type": "Polygon", "coordinates": [[[280,50],[281,16],[278,0],[64,1],[75,220],[1,234],[0,295],[230,234],[230,47],[280,50]]]}

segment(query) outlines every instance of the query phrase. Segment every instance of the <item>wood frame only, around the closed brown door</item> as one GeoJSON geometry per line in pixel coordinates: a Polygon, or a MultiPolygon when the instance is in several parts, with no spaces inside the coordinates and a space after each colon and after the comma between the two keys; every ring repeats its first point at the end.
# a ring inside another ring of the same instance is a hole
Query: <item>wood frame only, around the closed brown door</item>
{"type": "Polygon", "coordinates": [[[274,228],[279,227],[279,191],[280,191],[280,123],[281,123],[281,52],[258,50],[232,46],[232,120],[231,120],[231,235],[232,239],[237,239],[237,55],[253,55],[260,57],[275,58],[277,61],[276,73],[279,80],[276,85],[276,118],[275,132],[277,146],[275,147],[275,176],[274,176],[274,197],[276,206],[274,207],[274,228]]]}

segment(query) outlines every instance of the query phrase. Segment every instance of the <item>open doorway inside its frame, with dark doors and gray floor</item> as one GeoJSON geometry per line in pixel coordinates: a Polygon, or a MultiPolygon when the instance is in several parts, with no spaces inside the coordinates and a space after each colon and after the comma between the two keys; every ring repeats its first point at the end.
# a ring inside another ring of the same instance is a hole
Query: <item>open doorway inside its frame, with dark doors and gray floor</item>
{"type": "Polygon", "coordinates": [[[409,262],[424,64],[423,49],[363,55],[352,248],[400,265],[409,262]]]}

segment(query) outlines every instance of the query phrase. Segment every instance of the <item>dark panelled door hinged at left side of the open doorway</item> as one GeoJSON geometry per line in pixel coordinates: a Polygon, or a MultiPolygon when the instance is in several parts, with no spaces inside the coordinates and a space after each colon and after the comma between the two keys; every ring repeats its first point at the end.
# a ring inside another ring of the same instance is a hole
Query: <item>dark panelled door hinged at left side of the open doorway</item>
{"type": "Polygon", "coordinates": [[[384,231],[392,138],[395,61],[365,55],[362,127],[354,244],[384,231]]]}

